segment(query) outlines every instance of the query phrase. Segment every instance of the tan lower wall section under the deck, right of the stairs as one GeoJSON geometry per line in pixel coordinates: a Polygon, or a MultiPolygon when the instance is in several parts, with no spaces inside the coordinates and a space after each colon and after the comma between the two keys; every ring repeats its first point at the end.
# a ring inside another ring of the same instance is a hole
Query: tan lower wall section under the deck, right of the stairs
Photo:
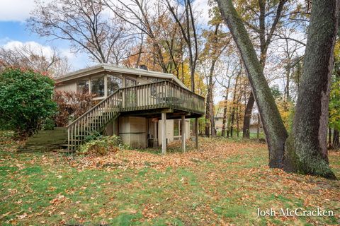
{"type": "Polygon", "coordinates": [[[147,147],[147,119],[144,117],[120,117],[119,136],[132,148],[147,147]]]}

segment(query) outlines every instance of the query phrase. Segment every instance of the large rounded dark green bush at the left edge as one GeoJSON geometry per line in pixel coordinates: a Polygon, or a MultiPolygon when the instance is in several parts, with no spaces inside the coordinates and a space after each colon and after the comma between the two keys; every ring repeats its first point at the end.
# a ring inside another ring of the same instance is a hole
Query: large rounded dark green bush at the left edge
{"type": "Polygon", "coordinates": [[[0,73],[0,127],[21,138],[30,136],[55,114],[54,81],[31,70],[5,69],[0,73]]]}

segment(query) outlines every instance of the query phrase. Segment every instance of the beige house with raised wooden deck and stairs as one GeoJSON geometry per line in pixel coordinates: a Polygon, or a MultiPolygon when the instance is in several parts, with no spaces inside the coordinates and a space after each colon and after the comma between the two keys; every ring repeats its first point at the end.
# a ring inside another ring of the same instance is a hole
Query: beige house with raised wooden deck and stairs
{"type": "Polygon", "coordinates": [[[204,114],[204,98],[176,76],[146,69],[98,64],[57,78],[55,89],[94,93],[98,102],[67,126],[70,150],[98,131],[134,148],[162,145],[165,153],[166,143],[190,137],[189,119],[204,114]]]}

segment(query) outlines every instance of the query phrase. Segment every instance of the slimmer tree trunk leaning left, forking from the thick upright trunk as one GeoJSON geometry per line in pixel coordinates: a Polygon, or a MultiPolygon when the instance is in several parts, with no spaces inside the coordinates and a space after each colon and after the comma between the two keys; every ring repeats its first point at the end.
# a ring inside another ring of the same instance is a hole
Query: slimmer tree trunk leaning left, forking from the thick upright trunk
{"type": "Polygon", "coordinates": [[[259,59],[251,44],[242,19],[237,14],[231,0],[217,0],[223,18],[227,22],[232,37],[237,44],[246,68],[252,92],[261,114],[261,121],[269,148],[269,166],[283,167],[285,140],[288,133],[276,107],[259,59]]]}

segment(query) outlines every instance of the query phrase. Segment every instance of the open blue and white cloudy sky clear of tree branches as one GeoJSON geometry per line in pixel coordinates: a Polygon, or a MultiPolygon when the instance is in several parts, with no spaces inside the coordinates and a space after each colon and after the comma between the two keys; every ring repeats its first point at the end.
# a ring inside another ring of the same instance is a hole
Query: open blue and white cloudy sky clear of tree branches
{"type": "MultiPolygon", "coordinates": [[[[0,0],[0,47],[11,49],[22,44],[41,46],[45,54],[57,48],[63,57],[67,57],[72,70],[84,69],[94,64],[86,54],[74,54],[69,42],[52,40],[51,37],[40,37],[27,28],[26,20],[34,10],[35,0],[0,0]]],[[[45,0],[45,2],[52,0],[45,0]]],[[[208,21],[208,0],[196,0],[195,8],[201,11],[200,23],[208,21]]]]}

